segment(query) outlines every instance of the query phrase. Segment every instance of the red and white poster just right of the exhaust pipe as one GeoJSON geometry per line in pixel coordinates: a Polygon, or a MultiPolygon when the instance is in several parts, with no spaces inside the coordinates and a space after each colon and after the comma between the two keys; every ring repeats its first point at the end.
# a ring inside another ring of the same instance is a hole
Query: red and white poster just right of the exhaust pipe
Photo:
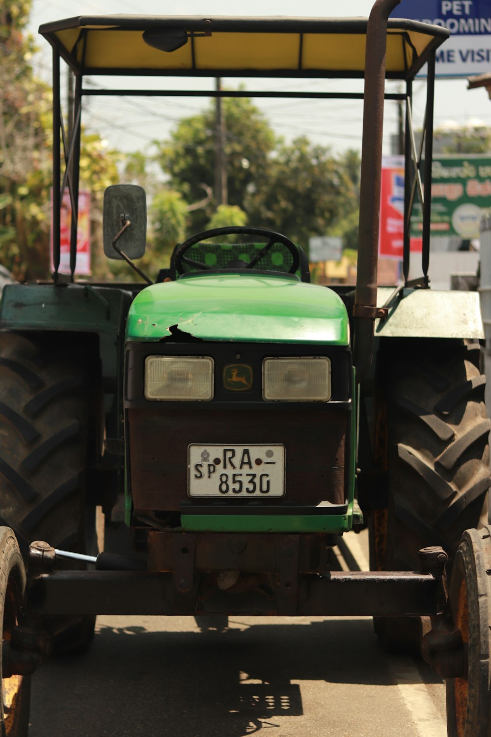
{"type": "MultiPolygon", "coordinates": [[[[379,256],[402,260],[403,233],[404,159],[400,156],[391,156],[382,161],[379,256]]],[[[411,238],[411,253],[421,251],[422,245],[421,238],[411,238]]]]}

